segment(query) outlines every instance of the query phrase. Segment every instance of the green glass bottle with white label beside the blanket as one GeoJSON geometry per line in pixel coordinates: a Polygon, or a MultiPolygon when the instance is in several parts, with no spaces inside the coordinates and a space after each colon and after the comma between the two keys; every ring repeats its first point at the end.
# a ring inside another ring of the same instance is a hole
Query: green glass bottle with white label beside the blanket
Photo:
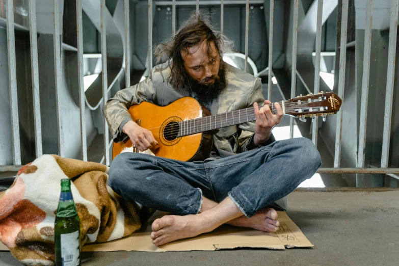
{"type": "Polygon", "coordinates": [[[54,224],[56,265],[81,265],[81,230],[69,178],[61,180],[61,195],[54,224]]]}

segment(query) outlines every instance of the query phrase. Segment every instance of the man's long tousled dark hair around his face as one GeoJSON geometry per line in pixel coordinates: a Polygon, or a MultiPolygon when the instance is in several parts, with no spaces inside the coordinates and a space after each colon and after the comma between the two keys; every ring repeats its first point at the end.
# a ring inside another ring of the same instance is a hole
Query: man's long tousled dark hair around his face
{"type": "Polygon", "coordinates": [[[211,54],[211,42],[216,46],[220,57],[220,68],[219,71],[226,73],[227,69],[223,62],[223,52],[231,52],[233,42],[224,35],[216,31],[211,23],[209,17],[203,12],[193,12],[189,19],[185,21],[179,31],[174,37],[157,45],[154,48],[154,55],[159,61],[168,62],[168,66],[171,69],[171,74],[168,77],[168,82],[176,90],[184,90],[192,81],[192,77],[187,73],[184,68],[184,61],[181,56],[181,52],[189,52],[188,48],[206,43],[207,54],[211,54]]]}

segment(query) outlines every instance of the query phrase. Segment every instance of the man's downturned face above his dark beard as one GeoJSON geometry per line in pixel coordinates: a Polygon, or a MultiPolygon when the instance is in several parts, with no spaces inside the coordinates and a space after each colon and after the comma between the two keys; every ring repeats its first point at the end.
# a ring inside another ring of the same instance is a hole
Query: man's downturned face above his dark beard
{"type": "Polygon", "coordinates": [[[182,51],[184,68],[199,84],[212,85],[218,79],[219,73],[219,52],[214,42],[210,42],[210,56],[207,54],[207,45],[201,44],[188,48],[189,52],[182,51]]]}

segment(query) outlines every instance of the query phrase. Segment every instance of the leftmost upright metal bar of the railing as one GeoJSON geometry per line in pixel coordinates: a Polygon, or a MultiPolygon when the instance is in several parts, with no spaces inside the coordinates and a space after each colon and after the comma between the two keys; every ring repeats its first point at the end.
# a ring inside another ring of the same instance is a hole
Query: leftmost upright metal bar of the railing
{"type": "Polygon", "coordinates": [[[17,67],[15,63],[15,30],[14,30],[14,4],[13,0],[7,0],[7,56],[8,77],[10,88],[11,128],[12,128],[12,154],[14,165],[21,164],[21,145],[19,142],[19,118],[18,118],[18,91],[17,91],[17,67]]]}

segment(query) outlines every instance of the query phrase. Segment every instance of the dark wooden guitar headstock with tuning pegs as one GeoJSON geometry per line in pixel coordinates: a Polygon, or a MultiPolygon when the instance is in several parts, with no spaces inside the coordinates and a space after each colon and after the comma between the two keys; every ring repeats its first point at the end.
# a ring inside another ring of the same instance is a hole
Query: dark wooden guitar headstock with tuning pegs
{"type": "Polygon", "coordinates": [[[325,121],[327,115],[339,111],[341,104],[341,98],[334,92],[300,95],[285,101],[285,114],[299,117],[301,121],[305,121],[305,117],[322,116],[325,121]]]}

